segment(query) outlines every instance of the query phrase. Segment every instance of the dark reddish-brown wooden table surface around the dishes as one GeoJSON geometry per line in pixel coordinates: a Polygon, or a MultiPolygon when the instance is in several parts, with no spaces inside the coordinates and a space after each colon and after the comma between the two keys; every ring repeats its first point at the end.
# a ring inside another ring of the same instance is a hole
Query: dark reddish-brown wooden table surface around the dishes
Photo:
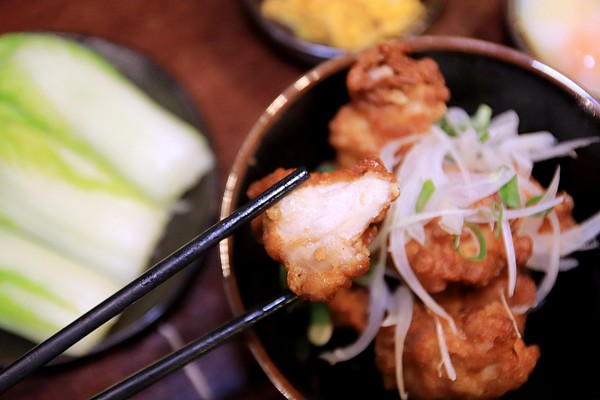
{"type": "MultiPolygon", "coordinates": [[[[500,0],[446,1],[430,34],[509,44],[500,0]]],[[[129,46],[170,72],[191,95],[218,156],[221,194],[245,135],[263,110],[307,66],[284,58],[253,30],[235,0],[0,0],[0,33],[77,32],[129,46]]],[[[192,290],[156,326],[98,357],[43,368],[7,399],[86,399],[231,318],[217,249],[192,290]],[[165,333],[167,332],[167,333],[165,333]]],[[[0,344],[1,346],[2,344],[0,344]]],[[[233,338],[135,398],[281,399],[245,346],[233,338]]]]}

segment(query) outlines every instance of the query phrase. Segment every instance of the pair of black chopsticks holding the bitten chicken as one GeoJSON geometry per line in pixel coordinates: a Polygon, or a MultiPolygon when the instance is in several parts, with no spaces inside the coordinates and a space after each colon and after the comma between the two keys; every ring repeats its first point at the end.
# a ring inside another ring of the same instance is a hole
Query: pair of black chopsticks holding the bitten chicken
{"type": "MultiPolygon", "coordinates": [[[[298,168],[281,181],[270,187],[257,198],[235,210],[231,215],[217,222],[188,244],[169,255],[123,289],[61,329],[49,339],[40,343],[19,359],[0,370],[0,394],[25,379],[73,344],[87,336],[103,323],[117,316],[129,305],[149,293],[175,273],[200,257],[208,249],[227,238],[242,224],[252,220],[269,206],[280,200],[292,189],[309,178],[305,168],[298,168]]],[[[293,303],[296,295],[285,292],[270,302],[259,306],[226,323],[204,338],[192,342],[159,360],[150,367],[130,376],[120,384],[99,394],[97,399],[127,398],[156,382],[166,374],[186,365],[195,358],[210,351],[233,335],[244,331],[273,312],[293,303]]]]}

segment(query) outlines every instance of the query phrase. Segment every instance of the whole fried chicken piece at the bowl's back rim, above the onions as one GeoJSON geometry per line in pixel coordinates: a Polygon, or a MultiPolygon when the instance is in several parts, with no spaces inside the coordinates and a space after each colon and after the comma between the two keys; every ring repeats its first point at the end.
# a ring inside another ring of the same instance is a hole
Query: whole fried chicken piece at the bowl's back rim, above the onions
{"type": "Polygon", "coordinates": [[[329,125],[340,165],[377,155],[393,139],[428,132],[446,112],[450,92],[438,64],[407,52],[406,45],[389,41],[365,52],[350,69],[351,101],[329,125]]]}

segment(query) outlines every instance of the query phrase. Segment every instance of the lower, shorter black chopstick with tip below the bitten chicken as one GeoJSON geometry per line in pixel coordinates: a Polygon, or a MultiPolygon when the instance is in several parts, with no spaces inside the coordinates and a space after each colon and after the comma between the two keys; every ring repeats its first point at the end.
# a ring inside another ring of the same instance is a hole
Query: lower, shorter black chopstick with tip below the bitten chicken
{"type": "Polygon", "coordinates": [[[128,378],[92,397],[92,399],[127,399],[164,376],[184,367],[232,336],[245,331],[256,322],[266,318],[277,310],[287,307],[297,300],[298,296],[289,290],[285,291],[283,294],[269,302],[230,320],[208,335],[187,344],[181,349],[158,360],[154,364],[130,375],[128,378]]]}

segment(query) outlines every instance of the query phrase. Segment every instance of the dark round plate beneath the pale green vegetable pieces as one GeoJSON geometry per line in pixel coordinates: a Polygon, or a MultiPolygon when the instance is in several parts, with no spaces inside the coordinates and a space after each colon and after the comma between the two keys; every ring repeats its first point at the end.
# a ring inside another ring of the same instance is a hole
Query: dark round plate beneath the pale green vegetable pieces
{"type": "MultiPolygon", "coordinates": [[[[105,39],[71,33],[60,33],[60,35],[75,39],[106,57],[157,103],[194,125],[210,142],[204,122],[191,99],[179,84],[154,61],[131,48],[105,39]]],[[[165,235],[153,254],[150,265],[162,260],[213,223],[218,206],[216,182],[216,171],[213,169],[186,193],[183,201],[189,207],[184,212],[173,215],[165,235]]],[[[201,257],[127,308],[107,336],[88,355],[97,354],[120,344],[140,334],[158,321],[177,299],[183,296],[202,263],[203,258],[201,257]]],[[[16,360],[33,346],[34,344],[28,340],[0,330],[0,365],[7,365],[16,360]]],[[[49,365],[64,364],[81,358],[62,355],[51,361],[49,365]]]]}

